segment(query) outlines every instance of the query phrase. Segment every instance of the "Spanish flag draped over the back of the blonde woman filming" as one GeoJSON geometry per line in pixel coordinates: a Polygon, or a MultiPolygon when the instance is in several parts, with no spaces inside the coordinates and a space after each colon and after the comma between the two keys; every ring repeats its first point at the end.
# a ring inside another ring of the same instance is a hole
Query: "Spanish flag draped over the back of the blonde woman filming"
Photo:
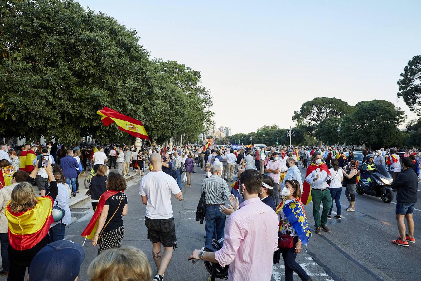
{"type": "Polygon", "coordinates": [[[14,213],[10,201],[5,209],[9,222],[9,242],[13,249],[23,251],[31,249],[48,235],[53,219],[53,198],[38,197],[33,209],[14,213]]]}

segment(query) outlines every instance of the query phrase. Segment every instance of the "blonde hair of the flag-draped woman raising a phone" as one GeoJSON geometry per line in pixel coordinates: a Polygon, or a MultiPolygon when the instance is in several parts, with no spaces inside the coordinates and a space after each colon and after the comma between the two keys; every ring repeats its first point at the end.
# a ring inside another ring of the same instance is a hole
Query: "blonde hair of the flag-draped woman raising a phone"
{"type": "Polygon", "coordinates": [[[34,187],[29,182],[21,182],[13,188],[10,195],[10,210],[14,213],[20,213],[32,209],[37,203],[34,187]]]}

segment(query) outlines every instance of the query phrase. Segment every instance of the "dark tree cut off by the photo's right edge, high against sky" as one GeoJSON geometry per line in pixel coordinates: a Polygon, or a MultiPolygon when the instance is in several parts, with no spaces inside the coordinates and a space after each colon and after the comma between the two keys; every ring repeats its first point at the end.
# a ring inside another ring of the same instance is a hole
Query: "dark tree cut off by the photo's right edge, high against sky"
{"type": "Polygon", "coordinates": [[[397,81],[397,96],[403,98],[410,110],[421,115],[421,56],[413,56],[403,71],[397,81]]]}

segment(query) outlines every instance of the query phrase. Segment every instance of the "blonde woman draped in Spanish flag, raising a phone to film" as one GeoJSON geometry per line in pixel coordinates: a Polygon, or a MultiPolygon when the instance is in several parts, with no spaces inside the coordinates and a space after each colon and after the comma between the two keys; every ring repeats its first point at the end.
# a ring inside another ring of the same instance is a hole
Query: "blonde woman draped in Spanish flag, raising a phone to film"
{"type": "Polygon", "coordinates": [[[35,255],[49,243],[48,231],[53,219],[53,202],[59,194],[51,164],[43,167],[50,182],[48,196],[37,197],[32,186],[37,176],[38,161],[25,182],[13,188],[5,215],[9,225],[10,269],[7,280],[23,281],[26,268],[35,255]]]}

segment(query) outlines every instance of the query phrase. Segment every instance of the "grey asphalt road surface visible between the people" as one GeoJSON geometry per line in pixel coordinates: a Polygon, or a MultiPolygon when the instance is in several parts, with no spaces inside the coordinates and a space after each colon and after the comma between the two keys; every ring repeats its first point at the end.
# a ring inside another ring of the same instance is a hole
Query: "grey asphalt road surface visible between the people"
{"type": "MultiPolygon", "coordinates": [[[[197,202],[200,198],[200,182],[205,177],[203,171],[197,170],[192,177],[192,187],[184,187],[184,201],[171,199],[176,221],[178,248],[165,273],[167,281],[206,281],[210,276],[203,262],[192,264],[187,258],[193,249],[200,249],[205,242],[205,224],[196,221],[197,202]]],[[[304,175],[304,169],[301,169],[304,175]]],[[[144,225],[145,205],[141,203],[139,182],[136,177],[128,182],[128,215],[124,217],[125,237],[122,245],[136,246],[149,257],[152,271],[156,272],[152,259],[152,243],[147,239],[144,225]]],[[[303,176],[304,179],[304,176],[303,176]]],[[[421,185],[419,190],[421,190],[421,185]]],[[[418,197],[421,196],[421,191],[418,197]]],[[[312,238],[306,248],[298,254],[297,261],[304,267],[309,276],[317,281],[370,281],[370,280],[420,280],[421,259],[419,241],[409,247],[396,246],[392,239],[397,232],[393,203],[383,203],[380,198],[356,194],[355,212],[346,212],[348,202],[341,195],[342,220],[328,220],[331,233],[322,231],[321,235],[314,233],[312,203],[305,207],[309,224],[312,227],[312,238]]],[[[92,216],[92,209],[72,209],[72,216],[77,220],[66,229],[65,238],[83,243],[80,236],[92,216]]],[[[421,200],[416,203],[421,209],[421,200]]],[[[421,211],[414,212],[416,224],[415,236],[421,236],[421,211]]],[[[336,206],[333,207],[336,211],[336,206]]],[[[86,276],[90,262],[96,257],[97,248],[87,240],[85,243],[85,261],[80,269],[78,280],[89,280],[86,276]]],[[[256,242],[257,243],[257,242],[256,242]]],[[[1,276],[0,280],[6,280],[1,276]]],[[[274,265],[272,281],[285,280],[283,264],[274,265]]],[[[294,280],[300,280],[294,274],[294,280]]]]}

